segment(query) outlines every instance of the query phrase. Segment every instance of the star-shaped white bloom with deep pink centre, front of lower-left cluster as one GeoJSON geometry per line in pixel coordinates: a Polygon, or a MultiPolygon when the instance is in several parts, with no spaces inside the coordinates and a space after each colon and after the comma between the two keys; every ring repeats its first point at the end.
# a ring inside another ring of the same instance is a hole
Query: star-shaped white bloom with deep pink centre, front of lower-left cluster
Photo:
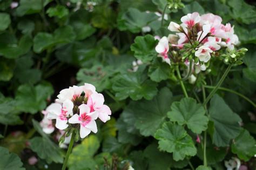
{"type": "Polygon", "coordinates": [[[86,104],[79,106],[79,115],[74,114],[70,119],[70,124],[80,124],[80,137],[85,138],[91,133],[97,133],[96,119],[98,118],[98,112],[90,112],[90,107],[86,104]]]}

